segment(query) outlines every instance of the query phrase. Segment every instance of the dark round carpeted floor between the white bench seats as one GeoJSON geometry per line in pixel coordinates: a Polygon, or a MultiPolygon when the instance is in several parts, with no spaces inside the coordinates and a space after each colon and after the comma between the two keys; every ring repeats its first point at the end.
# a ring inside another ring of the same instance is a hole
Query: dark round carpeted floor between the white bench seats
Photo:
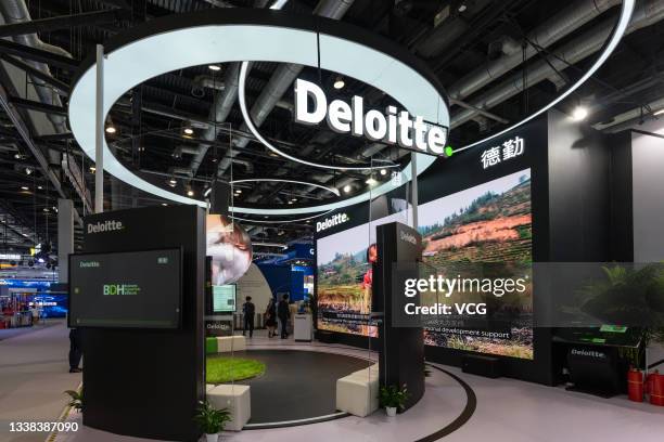
{"type": "Polygon", "coordinates": [[[265,375],[241,381],[252,387],[250,424],[278,422],[336,412],[336,379],[371,365],[342,354],[297,350],[237,352],[266,364],[265,375]]]}

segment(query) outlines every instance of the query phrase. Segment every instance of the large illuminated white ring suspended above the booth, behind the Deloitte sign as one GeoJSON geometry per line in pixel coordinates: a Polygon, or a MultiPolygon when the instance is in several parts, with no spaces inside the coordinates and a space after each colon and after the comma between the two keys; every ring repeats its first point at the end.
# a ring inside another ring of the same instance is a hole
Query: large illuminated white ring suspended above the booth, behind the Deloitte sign
{"type": "MultiPolygon", "coordinates": [[[[449,109],[437,78],[421,60],[398,44],[328,18],[240,8],[166,16],[130,29],[107,43],[103,115],[136,84],[189,66],[246,60],[318,66],[318,41],[321,68],[371,84],[391,95],[411,115],[449,127],[449,109]],[[168,48],[167,53],[164,48],[168,48]]],[[[82,151],[94,158],[93,56],[84,66],[69,95],[69,126],[82,151]]],[[[163,198],[206,207],[203,200],[170,192],[130,171],[111,153],[105,140],[103,155],[104,170],[120,181],[163,198]]],[[[435,159],[416,155],[418,174],[435,159]]],[[[406,166],[401,182],[408,182],[410,174],[410,167],[406,166]]],[[[390,181],[361,195],[315,207],[230,209],[268,216],[314,213],[362,203],[396,187],[390,181]]]]}

